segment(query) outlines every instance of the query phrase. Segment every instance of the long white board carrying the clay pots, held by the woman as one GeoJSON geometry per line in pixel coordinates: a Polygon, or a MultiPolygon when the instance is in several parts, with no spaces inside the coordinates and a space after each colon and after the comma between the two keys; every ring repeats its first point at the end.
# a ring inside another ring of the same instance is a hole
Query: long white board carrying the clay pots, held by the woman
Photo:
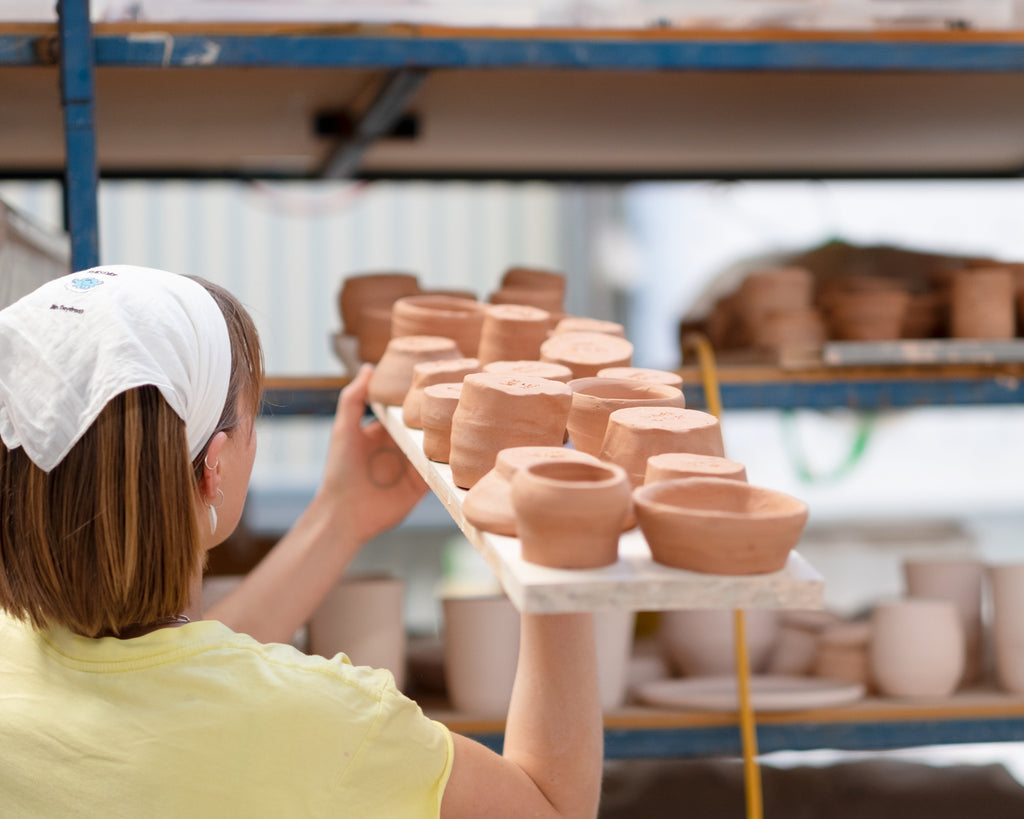
{"type": "Polygon", "coordinates": [[[797,552],[777,572],[740,576],[702,574],[651,559],[638,528],[623,533],[618,560],[598,569],[552,569],[524,561],[514,537],[481,531],[462,513],[466,489],[455,485],[447,464],[423,452],[423,432],[401,420],[401,407],[371,404],[398,447],[423,475],[470,543],[480,552],[520,611],[657,611],[674,608],[822,608],[824,579],[797,552]]]}

